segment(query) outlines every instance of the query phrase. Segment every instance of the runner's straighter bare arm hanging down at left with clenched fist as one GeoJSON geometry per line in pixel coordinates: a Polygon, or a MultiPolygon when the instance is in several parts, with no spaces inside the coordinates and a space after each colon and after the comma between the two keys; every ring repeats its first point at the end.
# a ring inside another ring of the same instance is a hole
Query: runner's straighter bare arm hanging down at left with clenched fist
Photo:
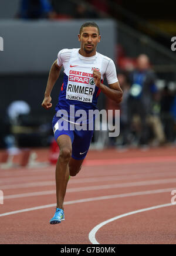
{"type": "Polygon", "coordinates": [[[50,93],[52,91],[53,86],[55,85],[57,79],[59,78],[60,70],[62,67],[59,67],[57,65],[57,60],[52,64],[52,67],[50,68],[49,77],[48,77],[48,83],[45,90],[45,97],[42,102],[42,107],[45,109],[50,109],[52,107],[51,103],[51,97],[50,93]]]}

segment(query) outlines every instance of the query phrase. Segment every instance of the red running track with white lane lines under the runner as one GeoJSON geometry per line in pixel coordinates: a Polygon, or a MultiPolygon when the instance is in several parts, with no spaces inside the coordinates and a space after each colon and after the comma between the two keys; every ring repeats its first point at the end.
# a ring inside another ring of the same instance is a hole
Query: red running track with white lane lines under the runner
{"type": "MultiPolygon", "coordinates": [[[[57,225],[49,224],[55,166],[0,170],[0,244],[176,244],[175,153],[175,147],[90,151],[69,180],[65,221],[57,225]]],[[[38,150],[39,160],[47,156],[38,150]]]]}

